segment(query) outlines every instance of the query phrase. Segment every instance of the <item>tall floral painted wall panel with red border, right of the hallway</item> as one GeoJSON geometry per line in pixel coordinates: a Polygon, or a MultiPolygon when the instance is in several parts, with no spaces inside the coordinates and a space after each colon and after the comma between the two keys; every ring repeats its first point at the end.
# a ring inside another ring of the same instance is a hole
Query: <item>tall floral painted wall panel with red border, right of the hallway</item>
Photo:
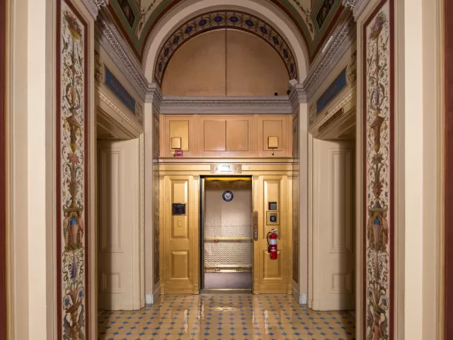
{"type": "Polygon", "coordinates": [[[393,0],[381,1],[363,28],[367,340],[393,337],[393,15],[393,0]]]}

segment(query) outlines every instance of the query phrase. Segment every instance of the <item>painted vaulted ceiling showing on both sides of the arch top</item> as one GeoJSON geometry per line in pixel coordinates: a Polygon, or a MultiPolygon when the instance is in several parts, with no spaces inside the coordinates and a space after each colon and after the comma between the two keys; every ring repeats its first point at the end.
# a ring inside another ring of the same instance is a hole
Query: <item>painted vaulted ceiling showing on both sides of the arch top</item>
{"type": "MultiPolygon", "coordinates": [[[[110,0],[109,10],[140,62],[156,23],[184,0],[110,0]]],[[[277,5],[299,29],[314,59],[343,10],[341,0],[266,0],[277,5]]]]}

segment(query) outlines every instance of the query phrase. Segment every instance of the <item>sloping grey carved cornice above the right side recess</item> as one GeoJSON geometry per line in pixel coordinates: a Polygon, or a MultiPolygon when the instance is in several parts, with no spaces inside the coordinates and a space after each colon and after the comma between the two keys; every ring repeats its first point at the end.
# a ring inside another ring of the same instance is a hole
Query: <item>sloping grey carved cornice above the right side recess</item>
{"type": "Polygon", "coordinates": [[[316,58],[314,67],[311,67],[311,71],[304,80],[303,86],[308,99],[314,95],[323,80],[326,79],[333,67],[336,66],[336,63],[343,57],[352,42],[355,41],[355,21],[352,14],[340,20],[329,40],[333,41],[327,52],[316,58]]]}

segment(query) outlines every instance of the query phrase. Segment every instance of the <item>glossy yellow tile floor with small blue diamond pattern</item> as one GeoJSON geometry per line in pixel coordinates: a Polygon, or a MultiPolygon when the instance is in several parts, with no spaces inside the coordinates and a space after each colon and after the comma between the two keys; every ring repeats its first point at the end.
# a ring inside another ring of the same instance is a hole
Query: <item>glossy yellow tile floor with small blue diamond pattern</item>
{"type": "Polygon", "coordinates": [[[291,295],[164,295],[129,312],[103,312],[98,339],[355,339],[348,312],[315,312],[291,295]]]}

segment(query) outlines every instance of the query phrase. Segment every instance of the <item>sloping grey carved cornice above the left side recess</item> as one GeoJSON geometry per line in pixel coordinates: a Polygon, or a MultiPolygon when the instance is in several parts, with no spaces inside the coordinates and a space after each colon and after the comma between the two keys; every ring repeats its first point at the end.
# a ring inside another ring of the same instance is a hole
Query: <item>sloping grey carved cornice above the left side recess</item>
{"type": "Polygon", "coordinates": [[[119,69],[124,69],[126,67],[127,72],[123,72],[123,74],[144,99],[149,93],[149,83],[146,77],[144,77],[142,65],[140,65],[137,58],[132,55],[130,47],[113,23],[108,22],[108,18],[105,14],[101,13],[99,18],[100,19],[96,21],[96,31],[101,46],[108,55],[110,55],[119,69]]]}

